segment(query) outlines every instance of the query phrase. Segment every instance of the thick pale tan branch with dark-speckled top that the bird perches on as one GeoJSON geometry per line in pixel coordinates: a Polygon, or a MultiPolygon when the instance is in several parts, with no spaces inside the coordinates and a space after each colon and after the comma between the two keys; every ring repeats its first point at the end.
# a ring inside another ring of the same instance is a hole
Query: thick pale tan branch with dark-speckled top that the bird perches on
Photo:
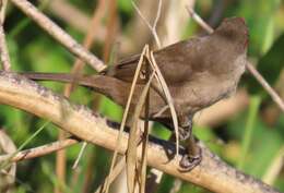
{"type": "MultiPolygon", "coordinates": [[[[23,76],[9,72],[0,73],[0,101],[48,119],[84,141],[111,150],[118,148],[120,154],[126,153],[128,134],[122,134],[121,145],[117,147],[118,131],[114,129],[114,122],[92,112],[84,106],[71,105],[66,98],[23,76]]],[[[277,192],[226,165],[201,143],[199,145],[202,148],[203,159],[190,172],[180,172],[178,162],[168,158],[167,153],[175,149],[174,144],[154,138],[149,145],[147,164],[213,192],[277,192]]],[[[141,153],[141,146],[138,149],[141,153]]],[[[181,150],[181,154],[185,152],[181,150]]]]}

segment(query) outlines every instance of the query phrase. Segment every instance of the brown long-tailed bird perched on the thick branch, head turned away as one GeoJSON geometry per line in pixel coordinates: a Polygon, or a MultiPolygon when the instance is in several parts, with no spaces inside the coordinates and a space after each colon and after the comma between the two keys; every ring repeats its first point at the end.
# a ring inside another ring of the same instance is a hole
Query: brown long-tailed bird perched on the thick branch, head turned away
{"type": "MultiPolygon", "coordinates": [[[[181,166],[190,170],[201,160],[201,152],[191,135],[193,114],[232,95],[245,71],[248,29],[244,19],[225,19],[214,33],[165,47],[154,52],[167,83],[178,117],[179,136],[188,143],[188,156],[181,166]]],[[[140,56],[113,65],[104,73],[75,77],[72,74],[22,73],[32,80],[74,82],[102,93],[126,106],[140,56]]],[[[146,81],[143,71],[138,80],[130,112],[133,112],[146,81]]],[[[161,87],[154,81],[150,89],[150,119],[173,130],[169,109],[161,87]]]]}

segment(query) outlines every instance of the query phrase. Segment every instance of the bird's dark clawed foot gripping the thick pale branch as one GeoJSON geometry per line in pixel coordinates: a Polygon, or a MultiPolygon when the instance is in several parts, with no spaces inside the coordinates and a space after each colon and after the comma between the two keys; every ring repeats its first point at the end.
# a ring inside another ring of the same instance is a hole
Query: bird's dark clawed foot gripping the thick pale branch
{"type": "Polygon", "coordinates": [[[181,158],[179,166],[181,167],[180,171],[187,172],[192,170],[196,166],[198,166],[202,160],[201,148],[199,148],[199,153],[197,155],[184,155],[181,158]]]}

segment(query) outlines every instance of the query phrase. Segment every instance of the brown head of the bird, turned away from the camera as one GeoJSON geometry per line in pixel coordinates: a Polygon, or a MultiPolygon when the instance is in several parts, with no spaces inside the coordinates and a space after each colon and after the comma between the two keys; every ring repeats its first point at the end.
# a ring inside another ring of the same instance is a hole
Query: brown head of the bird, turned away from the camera
{"type": "Polygon", "coordinates": [[[249,33],[242,17],[225,19],[214,34],[233,43],[238,51],[246,51],[249,43],[249,33]]]}

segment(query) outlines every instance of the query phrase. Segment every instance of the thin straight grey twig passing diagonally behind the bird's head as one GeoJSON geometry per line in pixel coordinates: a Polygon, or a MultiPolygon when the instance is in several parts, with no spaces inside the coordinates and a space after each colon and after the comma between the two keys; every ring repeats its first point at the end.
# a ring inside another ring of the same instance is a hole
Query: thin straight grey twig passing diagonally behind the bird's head
{"type": "MultiPolygon", "coordinates": [[[[212,34],[214,29],[208,25],[192,9],[186,7],[188,13],[196,20],[201,27],[203,27],[209,34],[212,34]]],[[[270,84],[264,80],[264,77],[258,72],[258,70],[248,61],[246,63],[247,70],[257,79],[257,81],[261,84],[261,86],[268,92],[273,101],[277,104],[280,109],[284,112],[284,101],[279,96],[279,94],[270,86],[270,84]]]]}

